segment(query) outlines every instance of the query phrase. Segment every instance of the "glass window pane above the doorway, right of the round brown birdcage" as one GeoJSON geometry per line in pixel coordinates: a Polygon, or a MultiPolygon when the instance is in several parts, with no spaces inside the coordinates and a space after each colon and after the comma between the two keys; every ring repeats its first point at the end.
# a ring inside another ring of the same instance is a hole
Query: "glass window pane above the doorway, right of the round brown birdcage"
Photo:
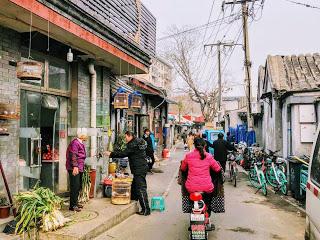
{"type": "Polygon", "coordinates": [[[49,88],[68,91],[69,74],[68,64],[58,61],[49,62],[49,88]]]}

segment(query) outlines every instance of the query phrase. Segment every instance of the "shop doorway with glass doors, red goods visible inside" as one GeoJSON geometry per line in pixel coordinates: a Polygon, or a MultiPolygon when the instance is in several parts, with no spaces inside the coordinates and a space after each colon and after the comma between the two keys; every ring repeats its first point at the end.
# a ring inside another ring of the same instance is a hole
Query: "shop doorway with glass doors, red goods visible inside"
{"type": "Polygon", "coordinates": [[[67,99],[21,91],[20,190],[40,186],[59,192],[65,162],[67,99]],[[64,133],[64,134],[63,134],[64,133]]]}

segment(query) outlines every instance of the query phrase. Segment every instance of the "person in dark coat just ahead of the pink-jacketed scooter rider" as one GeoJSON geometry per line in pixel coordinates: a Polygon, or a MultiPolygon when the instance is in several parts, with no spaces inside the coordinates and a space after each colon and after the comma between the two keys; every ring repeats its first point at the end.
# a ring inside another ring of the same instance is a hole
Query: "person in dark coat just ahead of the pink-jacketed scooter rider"
{"type": "Polygon", "coordinates": [[[228,141],[223,139],[223,133],[218,134],[218,139],[213,142],[214,159],[220,162],[223,171],[226,171],[228,151],[237,151],[237,149],[228,141]]]}

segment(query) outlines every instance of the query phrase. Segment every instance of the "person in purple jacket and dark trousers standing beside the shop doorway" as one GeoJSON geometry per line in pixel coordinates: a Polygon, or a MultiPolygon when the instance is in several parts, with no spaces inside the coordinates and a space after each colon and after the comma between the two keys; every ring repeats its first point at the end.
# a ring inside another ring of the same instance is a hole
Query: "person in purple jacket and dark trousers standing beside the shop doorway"
{"type": "Polygon", "coordinates": [[[84,142],[88,136],[79,133],[77,138],[73,139],[67,149],[66,168],[69,172],[70,180],[70,211],[80,212],[82,205],[78,203],[78,197],[82,186],[82,174],[84,170],[84,161],[86,159],[86,147],[84,142]]]}

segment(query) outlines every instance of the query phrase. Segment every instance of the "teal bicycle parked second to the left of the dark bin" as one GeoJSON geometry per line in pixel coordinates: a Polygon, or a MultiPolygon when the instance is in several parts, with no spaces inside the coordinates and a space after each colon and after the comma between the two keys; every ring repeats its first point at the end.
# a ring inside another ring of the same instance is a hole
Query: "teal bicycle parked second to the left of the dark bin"
{"type": "Polygon", "coordinates": [[[251,167],[249,170],[248,177],[251,185],[258,189],[256,193],[262,190],[263,195],[267,196],[268,194],[267,181],[263,171],[261,170],[262,165],[263,165],[262,162],[256,162],[256,160],[254,159],[251,162],[251,167]]]}

